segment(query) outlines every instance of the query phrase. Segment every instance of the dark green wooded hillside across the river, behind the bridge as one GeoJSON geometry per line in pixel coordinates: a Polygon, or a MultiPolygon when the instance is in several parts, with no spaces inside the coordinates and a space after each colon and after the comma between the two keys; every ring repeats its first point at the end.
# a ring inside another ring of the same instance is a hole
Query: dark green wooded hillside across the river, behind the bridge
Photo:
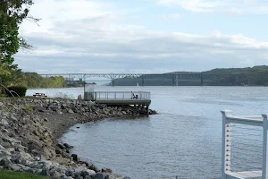
{"type": "MultiPolygon", "coordinates": [[[[145,86],[172,86],[172,79],[167,78],[166,74],[230,74],[230,76],[217,76],[204,79],[206,86],[268,86],[268,66],[254,66],[252,68],[216,68],[206,72],[169,72],[155,79],[145,79],[145,86]]],[[[136,86],[141,85],[140,78],[121,78],[115,79],[114,86],[136,86]]],[[[199,86],[200,79],[176,81],[178,86],[199,86]]]]}

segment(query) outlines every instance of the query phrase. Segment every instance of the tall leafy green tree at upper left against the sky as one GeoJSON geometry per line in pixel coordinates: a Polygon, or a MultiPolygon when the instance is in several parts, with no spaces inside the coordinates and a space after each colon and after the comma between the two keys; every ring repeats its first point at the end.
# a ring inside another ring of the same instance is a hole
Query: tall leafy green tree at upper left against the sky
{"type": "MultiPolygon", "coordinates": [[[[13,55],[20,47],[30,48],[24,38],[19,36],[19,27],[23,20],[38,21],[29,16],[32,0],[0,0],[0,78],[2,81],[16,72],[13,55]]],[[[0,79],[0,80],[1,80],[0,79]]]]}

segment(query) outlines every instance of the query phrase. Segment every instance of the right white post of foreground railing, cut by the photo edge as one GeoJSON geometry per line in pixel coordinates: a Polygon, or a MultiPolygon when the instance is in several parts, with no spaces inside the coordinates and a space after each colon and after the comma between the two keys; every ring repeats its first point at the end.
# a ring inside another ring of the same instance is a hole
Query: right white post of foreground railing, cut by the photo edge
{"type": "Polygon", "coordinates": [[[263,115],[264,117],[264,123],[263,123],[263,130],[264,130],[264,141],[263,141],[263,173],[262,173],[262,179],[268,179],[267,175],[267,161],[268,161],[268,156],[267,156],[267,115],[263,115]]]}

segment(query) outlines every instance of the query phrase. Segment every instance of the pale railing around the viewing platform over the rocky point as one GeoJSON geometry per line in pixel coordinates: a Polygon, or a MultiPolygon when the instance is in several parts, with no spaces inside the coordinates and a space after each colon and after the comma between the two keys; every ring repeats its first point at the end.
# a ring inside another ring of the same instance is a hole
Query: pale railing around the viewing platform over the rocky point
{"type": "Polygon", "coordinates": [[[150,100],[151,93],[146,91],[96,91],[95,100],[150,100]]]}

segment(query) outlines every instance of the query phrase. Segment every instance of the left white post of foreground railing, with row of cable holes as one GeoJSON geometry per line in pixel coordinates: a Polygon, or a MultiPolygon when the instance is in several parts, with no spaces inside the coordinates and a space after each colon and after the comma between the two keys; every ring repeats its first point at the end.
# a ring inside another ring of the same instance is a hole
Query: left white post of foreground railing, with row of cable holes
{"type": "Polygon", "coordinates": [[[230,172],[230,140],[231,128],[226,116],[231,115],[230,110],[222,111],[222,179],[226,178],[226,172],[230,172]]]}

